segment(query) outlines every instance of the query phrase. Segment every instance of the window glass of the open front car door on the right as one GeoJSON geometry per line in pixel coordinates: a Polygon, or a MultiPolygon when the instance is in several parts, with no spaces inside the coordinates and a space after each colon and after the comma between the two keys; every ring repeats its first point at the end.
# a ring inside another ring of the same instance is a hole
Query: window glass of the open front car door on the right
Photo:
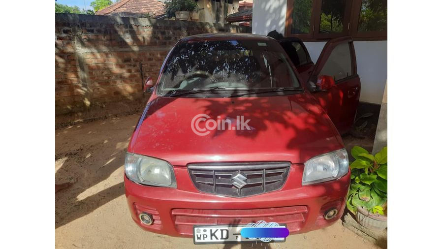
{"type": "Polygon", "coordinates": [[[332,76],[336,81],[352,75],[352,60],[348,43],[339,44],[332,50],[320,75],[332,76]]]}

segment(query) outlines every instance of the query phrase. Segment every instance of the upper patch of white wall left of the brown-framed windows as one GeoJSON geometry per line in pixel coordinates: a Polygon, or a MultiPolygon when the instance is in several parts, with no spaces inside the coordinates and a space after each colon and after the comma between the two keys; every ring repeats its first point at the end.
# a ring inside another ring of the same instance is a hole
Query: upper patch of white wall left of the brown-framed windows
{"type": "Polygon", "coordinates": [[[277,30],[285,33],[286,0],[254,0],[252,31],[268,34],[277,30]]]}

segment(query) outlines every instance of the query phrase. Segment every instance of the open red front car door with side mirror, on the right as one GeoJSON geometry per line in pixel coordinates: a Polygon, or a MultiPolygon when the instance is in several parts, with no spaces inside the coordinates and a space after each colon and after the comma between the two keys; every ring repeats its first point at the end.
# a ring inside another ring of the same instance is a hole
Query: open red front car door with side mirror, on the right
{"type": "Polygon", "coordinates": [[[360,78],[349,36],[325,44],[308,84],[338,131],[347,132],[354,123],[360,99],[360,78]]]}

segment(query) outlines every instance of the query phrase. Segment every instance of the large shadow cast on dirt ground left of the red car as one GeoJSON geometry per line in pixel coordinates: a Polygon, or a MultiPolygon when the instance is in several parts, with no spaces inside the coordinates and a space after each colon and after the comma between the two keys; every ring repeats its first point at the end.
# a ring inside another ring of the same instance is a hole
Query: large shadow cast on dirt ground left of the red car
{"type": "Polygon", "coordinates": [[[56,130],[56,183],[72,183],[56,193],[56,228],[125,193],[123,164],[138,116],[56,130]]]}

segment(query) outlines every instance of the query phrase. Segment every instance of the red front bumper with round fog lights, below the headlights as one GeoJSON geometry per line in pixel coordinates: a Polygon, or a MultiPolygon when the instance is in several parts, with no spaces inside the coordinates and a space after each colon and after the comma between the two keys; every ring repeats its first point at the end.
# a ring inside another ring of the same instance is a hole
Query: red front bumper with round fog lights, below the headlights
{"type": "Polygon", "coordinates": [[[303,166],[292,165],[283,188],[244,198],[199,192],[186,167],[174,167],[177,188],[150,187],[133,183],[125,176],[127,203],[132,219],[144,230],[176,237],[192,237],[193,225],[247,224],[264,220],[285,223],[289,232],[305,233],[331,225],[344,212],[350,171],[344,177],[301,186],[303,166]],[[335,218],[323,214],[337,209],[335,218]],[[149,213],[151,225],[139,215],[149,213]]]}

